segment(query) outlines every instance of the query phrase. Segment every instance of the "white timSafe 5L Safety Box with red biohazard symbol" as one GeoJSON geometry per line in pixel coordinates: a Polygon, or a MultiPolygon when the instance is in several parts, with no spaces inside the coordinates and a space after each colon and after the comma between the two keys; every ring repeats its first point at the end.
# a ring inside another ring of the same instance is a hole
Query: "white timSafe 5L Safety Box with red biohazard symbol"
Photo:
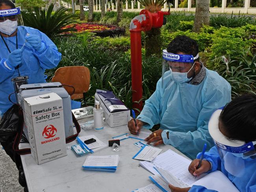
{"type": "Polygon", "coordinates": [[[24,98],[24,124],[37,164],[67,155],[63,104],[56,93],[24,98]]]}

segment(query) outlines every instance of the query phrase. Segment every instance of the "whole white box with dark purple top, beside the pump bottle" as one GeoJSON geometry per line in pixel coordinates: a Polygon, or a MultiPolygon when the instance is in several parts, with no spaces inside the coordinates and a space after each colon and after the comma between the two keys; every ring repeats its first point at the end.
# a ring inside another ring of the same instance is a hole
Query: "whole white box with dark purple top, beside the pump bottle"
{"type": "Polygon", "coordinates": [[[130,120],[130,109],[119,100],[112,91],[97,89],[95,99],[104,110],[105,122],[109,127],[127,125],[130,120]]]}

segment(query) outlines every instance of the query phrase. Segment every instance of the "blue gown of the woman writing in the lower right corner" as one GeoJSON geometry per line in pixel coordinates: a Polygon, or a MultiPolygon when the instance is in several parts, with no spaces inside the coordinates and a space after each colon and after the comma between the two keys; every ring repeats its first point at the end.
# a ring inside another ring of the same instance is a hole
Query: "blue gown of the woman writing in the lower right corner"
{"type": "MultiPolygon", "coordinates": [[[[201,153],[197,155],[200,159],[201,153]]],[[[256,159],[245,159],[245,170],[241,170],[244,174],[241,177],[235,177],[226,171],[219,157],[217,148],[214,146],[209,152],[204,153],[204,159],[211,162],[210,172],[219,170],[225,174],[228,179],[236,186],[236,188],[241,192],[256,192],[256,159]]],[[[213,181],[214,182],[214,181],[213,181]]],[[[217,183],[216,183],[217,184],[217,183]]],[[[193,185],[189,192],[212,192],[214,190],[206,189],[203,186],[193,185]]]]}

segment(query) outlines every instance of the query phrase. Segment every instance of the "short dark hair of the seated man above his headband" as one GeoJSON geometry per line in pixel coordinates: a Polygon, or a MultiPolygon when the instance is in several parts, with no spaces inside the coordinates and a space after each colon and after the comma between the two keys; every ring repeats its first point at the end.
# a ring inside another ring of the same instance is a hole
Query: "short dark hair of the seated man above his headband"
{"type": "MultiPolygon", "coordinates": [[[[185,54],[197,56],[198,44],[194,39],[187,37],[186,35],[178,35],[171,41],[167,47],[167,52],[177,54],[178,52],[183,52],[185,54]]],[[[196,59],[195,61],[199,61],[196,59]]]]}

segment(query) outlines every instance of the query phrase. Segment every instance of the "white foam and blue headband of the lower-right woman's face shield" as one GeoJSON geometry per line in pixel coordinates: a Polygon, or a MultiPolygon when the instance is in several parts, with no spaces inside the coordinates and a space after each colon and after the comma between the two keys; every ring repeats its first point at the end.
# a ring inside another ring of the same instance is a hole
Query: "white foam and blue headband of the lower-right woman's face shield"
{"type": "Polygon", "coordinates": [[[221,111],[221,109],[217,109],[212,114],[208,124],[209,133],[215,142],[215,146],[226,152],[243,153],[245,155],[247,152],[255,150],[254,145],[256,144],[256,141],[245,143],[241,140],[231,140],[221,133],[219,130],[219,116],[221,111]]]}

